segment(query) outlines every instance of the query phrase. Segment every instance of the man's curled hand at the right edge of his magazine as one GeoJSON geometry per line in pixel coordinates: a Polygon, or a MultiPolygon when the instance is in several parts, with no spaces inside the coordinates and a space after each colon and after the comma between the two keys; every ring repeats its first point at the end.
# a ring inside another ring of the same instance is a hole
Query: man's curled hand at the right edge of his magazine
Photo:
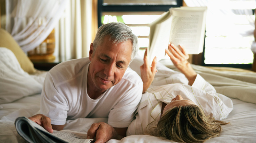
{"type": "Polygon", "coordinates": [[[96,139],[95,143],[105,143],[110,139],[119,139],[116,130],[104,122],[94,123],[87,132],[88,139],[96,139]]]}

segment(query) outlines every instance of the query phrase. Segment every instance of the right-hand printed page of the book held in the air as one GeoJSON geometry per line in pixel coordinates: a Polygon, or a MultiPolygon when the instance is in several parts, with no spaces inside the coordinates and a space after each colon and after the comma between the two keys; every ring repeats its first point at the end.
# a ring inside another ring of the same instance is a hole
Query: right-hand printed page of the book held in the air
{"type": "Polygon", "coordinates": [[[182,7],[170,10],[173,13],[170,42],[178,47],[182,45],[188,54],[203,52],[206,8],[182,7]]]}

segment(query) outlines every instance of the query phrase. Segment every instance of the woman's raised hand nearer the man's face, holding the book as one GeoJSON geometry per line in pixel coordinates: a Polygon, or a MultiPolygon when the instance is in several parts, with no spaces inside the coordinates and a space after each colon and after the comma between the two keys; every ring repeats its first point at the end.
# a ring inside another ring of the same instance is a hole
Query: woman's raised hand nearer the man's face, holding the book
{"type": "Polygon", "coordinates": [[[157,72],[157,57],[154,57],[152,61],[152,65],[149,66],[147,59],[147,49],[144,53],[143,58],[144,64],[140,66],[140,75],[143,82],[143,90],[142,93],[145,93],[148,87],[151,85],[154,80],[155,74],[157,72]]]}

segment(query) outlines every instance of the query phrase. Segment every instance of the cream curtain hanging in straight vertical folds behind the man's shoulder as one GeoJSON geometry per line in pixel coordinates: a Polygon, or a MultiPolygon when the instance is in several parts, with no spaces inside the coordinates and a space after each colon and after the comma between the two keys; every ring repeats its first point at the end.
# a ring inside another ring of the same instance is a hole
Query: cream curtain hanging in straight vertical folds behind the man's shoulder
{"type": "Polygon", "coordinates": [[[92,42],[92,0],[68,0],[55,26],[54,56],[60,61],[87,57],[92,42]]]}

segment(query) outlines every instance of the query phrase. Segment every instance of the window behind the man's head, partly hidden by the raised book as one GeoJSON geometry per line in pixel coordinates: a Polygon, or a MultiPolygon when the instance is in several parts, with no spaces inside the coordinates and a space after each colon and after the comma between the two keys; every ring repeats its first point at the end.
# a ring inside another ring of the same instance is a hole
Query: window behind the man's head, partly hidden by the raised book
{"type": "Polygon", "coordinates": [[[149,24],[169,8],[181,5],[182,0],[99,0],[98,25],[122,22],[130,26],[139,37],[139,54],[143,56],[149,43],[149,24]]]}

